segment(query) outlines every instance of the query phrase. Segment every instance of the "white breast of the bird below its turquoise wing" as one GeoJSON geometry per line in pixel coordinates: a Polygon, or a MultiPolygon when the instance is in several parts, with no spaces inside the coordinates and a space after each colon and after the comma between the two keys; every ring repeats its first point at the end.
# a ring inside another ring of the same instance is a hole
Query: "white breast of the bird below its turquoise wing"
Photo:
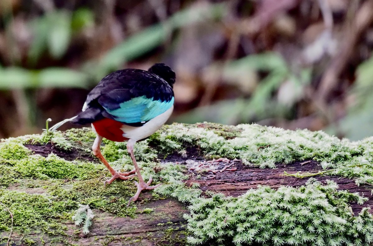
{"type": "Polygon", "coordinates": [[[160,114],[149,120],[147,123],[140,127],[123,125],[120,129],[123,131],[123,137],[139,141],[141,139],[147,138],[156,132],[159,128],[166,123],[167,119],[171,116],[173,111],[173,105],[166,112],[160,114]]]}

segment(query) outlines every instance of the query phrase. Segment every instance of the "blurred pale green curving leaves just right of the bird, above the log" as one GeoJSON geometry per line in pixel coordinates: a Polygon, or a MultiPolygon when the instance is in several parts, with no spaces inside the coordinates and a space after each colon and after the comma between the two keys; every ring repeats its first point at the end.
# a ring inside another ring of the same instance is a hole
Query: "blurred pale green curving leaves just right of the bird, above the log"
{"type": "Polygon", "coordinates": [[[250,76],[249,70],[266,73],[251,97],[224,100],[210,106],[200,107],[177,118],[177,121],[236,124],[254,122],[266,117],[290,116],[292,106],[300,93],[297,88],[300,88],[302,92],[302,88],[311,81],[310,69],[303,69],[300,74],[295,74],[280,54],[273,52],[228,61],[222,67],[222,74],[225,78],[238,79],[242,74],[250,76]],[[290,81],[293,89],[286,91],[286,101],[281,102],[272,95],[284,81],[290,81]]]}

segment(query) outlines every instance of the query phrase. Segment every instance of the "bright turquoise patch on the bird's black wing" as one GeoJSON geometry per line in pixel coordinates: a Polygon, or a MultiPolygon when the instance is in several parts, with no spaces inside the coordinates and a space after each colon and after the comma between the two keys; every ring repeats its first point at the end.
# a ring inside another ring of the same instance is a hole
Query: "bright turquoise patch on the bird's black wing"
{"type": "Polygon", "coordinates": [[[168,102],[153,101],[153,98],[135,97],[129,101],[119,104],[119,108],[115,110],[105,110],[114,116],[114,119],[119,122],[137,123],[145,122],[166,112],[173,105],[174,98],[168,102]]]}

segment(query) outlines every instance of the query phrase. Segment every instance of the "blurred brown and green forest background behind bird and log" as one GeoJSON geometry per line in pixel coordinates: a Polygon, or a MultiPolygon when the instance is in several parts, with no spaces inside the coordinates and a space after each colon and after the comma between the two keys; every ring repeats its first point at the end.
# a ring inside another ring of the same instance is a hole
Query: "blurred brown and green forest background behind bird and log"
{"type": "Polygon", "coordinates": [[[163,62],[177,76],[169,122],[362,139],[372,49],[373,0],[1,0],[0,138],[74,116],[114,70],[163,62]]]}

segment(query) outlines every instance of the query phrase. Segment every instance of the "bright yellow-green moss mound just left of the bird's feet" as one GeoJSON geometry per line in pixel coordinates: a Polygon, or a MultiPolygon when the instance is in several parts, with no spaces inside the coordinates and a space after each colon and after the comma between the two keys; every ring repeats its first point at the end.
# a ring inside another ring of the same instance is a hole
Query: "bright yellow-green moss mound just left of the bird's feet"
{"type": "Polygon", "coordinates": [[[97,171],[102,170],[101,165],[66,161],[55,154],[47,157],[32,155],[19,160],[15,165],[15,171],[23,177],[35,177],[38,179],[88,179],[97,177],[97,171]]]}

